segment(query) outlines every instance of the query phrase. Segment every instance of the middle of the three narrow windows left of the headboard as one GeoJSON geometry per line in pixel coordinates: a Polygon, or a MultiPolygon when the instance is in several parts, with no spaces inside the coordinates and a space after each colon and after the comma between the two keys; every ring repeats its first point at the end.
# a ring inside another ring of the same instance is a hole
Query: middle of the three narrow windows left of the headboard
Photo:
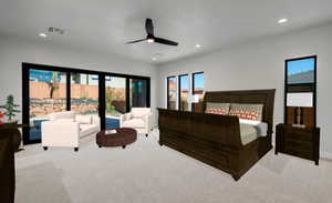
{"type": "Polygon", "coordinates": [[[181,111],[188,111],[188,94],[189,94],[189,77],[188,74],[181,74],[178,77],[178,92],[179,92],[179,102],[178,109],[181,111]]]}

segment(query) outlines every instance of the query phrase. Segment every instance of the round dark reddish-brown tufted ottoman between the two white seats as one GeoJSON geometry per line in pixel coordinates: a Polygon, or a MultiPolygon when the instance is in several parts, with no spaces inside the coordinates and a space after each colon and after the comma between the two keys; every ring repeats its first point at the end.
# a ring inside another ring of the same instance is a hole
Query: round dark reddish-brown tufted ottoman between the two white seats
{"type": "Polygon", "coordinates": [[[101,131],[96,134],[96,144],[102,146],[122,146],[126,148],[127,144],[131,144],[136,141],[137,132],[134,129],[129,128],[120,128],[115,129],[116,133],[105,134],[105,131],[101,131]]]}

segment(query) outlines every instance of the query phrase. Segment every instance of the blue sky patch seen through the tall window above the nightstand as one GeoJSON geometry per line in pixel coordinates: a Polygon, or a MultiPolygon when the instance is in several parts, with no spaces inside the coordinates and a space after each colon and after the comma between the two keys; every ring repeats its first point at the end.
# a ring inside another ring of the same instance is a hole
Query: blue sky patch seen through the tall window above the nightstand
{"type": "Polygon", "coordinates": [[[302,59],[288,62],[288,75],[295,74],[304,71],[313,71],[314,69],[314,58],[302,59]]]}

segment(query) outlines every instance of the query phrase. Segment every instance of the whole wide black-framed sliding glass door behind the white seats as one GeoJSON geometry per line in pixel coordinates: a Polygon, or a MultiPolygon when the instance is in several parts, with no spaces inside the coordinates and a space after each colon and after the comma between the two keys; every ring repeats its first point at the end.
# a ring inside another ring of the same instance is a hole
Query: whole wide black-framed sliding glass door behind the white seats
{"type": "Polygon", "coordinates": [[[41,142],[49,114],[98,115],[101,129],[120,126],[131,108],[149,108],[149,78],[22,63],[24,144],[41,142]]]}

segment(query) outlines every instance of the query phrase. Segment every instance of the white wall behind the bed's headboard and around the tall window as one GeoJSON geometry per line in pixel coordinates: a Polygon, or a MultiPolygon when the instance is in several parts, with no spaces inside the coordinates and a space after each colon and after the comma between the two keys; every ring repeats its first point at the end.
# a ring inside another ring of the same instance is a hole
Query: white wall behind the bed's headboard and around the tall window
{"type": "MultiPolygon", "coordinates": [[[[332,24],[263,38],[203,57],[159,65],[160,99],[165,106],[167,75],[205,72],[207,91],[277,89],[274,123],[283,121],[284,60],[318,54],[318,125],[321,151],[332,158],[332,24]]],[[[204,48],[203,48],[204,49],[204,48]]]]}

